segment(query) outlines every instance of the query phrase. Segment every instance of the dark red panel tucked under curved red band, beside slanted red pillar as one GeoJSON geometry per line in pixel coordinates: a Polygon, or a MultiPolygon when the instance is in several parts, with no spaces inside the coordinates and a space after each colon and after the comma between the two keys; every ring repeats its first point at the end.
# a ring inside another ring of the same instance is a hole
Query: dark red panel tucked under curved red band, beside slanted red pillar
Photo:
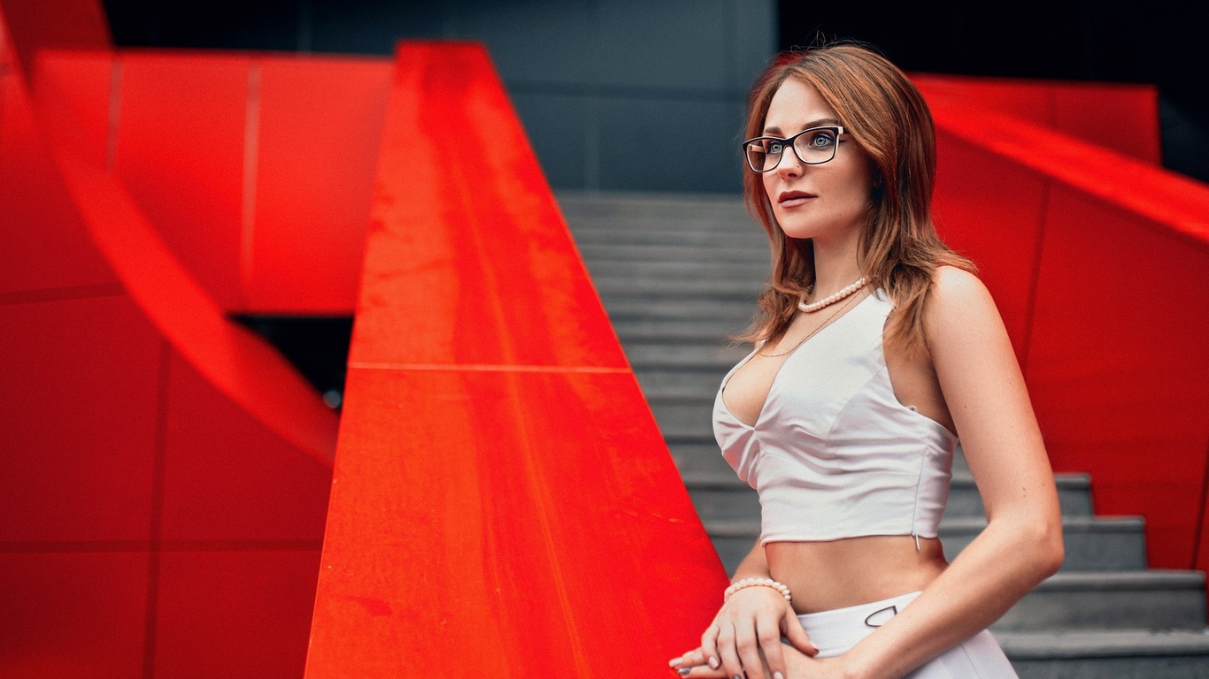
{"type": "Polygon", "coordinates": [[[265,430],[178,354],[168,370],[163,538],[318,549],[331,468],[265,430]]]}

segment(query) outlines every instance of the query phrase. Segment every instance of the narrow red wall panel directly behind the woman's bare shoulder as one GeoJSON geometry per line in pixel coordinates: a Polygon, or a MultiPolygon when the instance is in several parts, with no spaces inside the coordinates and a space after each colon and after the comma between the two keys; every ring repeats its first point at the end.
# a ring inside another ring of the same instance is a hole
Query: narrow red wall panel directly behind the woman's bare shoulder
{"type": "Polygon", "coordinates": [[[978,265],[1023,360],[1046,181],[945,132],[937,138],[937,227],[978,265]]]}

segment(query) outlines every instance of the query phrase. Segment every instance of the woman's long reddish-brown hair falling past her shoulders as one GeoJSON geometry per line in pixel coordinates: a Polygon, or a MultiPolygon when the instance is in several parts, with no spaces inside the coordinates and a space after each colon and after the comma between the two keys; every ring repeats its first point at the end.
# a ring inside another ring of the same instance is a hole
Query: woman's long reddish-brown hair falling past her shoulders
{"type": "MultiPolygon", "coordinates": [[[[771,62],[748,97],[747,139],[763,134],[773,95],[791,77],[814,87],[869,156],[874,188],[861,233],[862,268],[869,285],[885,290],[899,312],[887,338],[920,349],[924,303],[936,268],[974,268],[941,240],[932,224],[932,114],[919,89],[885,57],[860,45],[837,43],[786,52],[771,62]]],[[[788,329],[798,300],[814,284],[814,251],[809,239],[787,237],[777,226],[759,174],[744,172],[744,198],[768,232],[773,275],[759,296],[759,313],[736,340],[771,342],[788,329]]]]}

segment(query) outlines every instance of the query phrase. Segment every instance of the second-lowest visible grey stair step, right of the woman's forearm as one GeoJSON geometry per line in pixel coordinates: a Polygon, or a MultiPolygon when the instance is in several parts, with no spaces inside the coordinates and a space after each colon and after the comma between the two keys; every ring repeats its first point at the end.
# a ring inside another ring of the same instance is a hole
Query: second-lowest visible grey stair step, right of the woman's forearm
{"type": "Polygon", "coordinates": [[[1059,573],[1012,607],[993,629],[1203,629],[1204,585],[1204,574],[1192,570],[1059,573]]]}

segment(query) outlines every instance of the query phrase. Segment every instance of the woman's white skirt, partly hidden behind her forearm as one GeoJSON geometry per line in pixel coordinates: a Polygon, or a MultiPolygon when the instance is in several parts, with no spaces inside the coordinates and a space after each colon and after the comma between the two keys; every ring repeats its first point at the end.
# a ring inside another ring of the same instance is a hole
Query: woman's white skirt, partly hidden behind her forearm
{"type": "MultiPolygon", "coordinates": [[[[818,649],[818,657],[834,657],[885,625],[919,594],[912,592],[868,604],[808,613],[798,620],[810,636],[810,643],[818,649]]],[[[1017,679],[1017,675],[990,632],[983,629],[904,679],[1017,679]]]]}

